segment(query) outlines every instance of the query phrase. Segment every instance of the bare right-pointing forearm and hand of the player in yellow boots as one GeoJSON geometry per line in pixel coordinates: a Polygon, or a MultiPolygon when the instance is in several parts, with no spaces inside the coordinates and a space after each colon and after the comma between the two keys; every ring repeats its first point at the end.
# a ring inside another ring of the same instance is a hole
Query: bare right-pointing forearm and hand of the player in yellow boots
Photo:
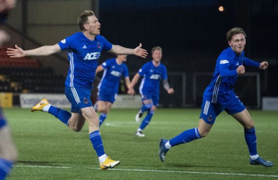
{"type": "Polygon", "coordinates": [[[141,47],[142,47],[141,43],[135,49],[122,47],[120,45],[113,45],[109,52],[116,55],[135,55],[141,58],[146,58],[148,52],[146,49],[142,49],[141,47]]]}

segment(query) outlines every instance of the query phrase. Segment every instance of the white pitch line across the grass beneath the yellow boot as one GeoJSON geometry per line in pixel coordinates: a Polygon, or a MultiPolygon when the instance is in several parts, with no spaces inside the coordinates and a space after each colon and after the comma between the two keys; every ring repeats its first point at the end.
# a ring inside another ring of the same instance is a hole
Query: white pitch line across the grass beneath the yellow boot
{"type": "MultiPolygon", "coordinates": [[[[101,170],[100,168],[92,167],[68,167],[68,166],[46,166],[46,165],[14,165],[14,167],[35,167],[35,168],[64,168],[64,169],[92,169],[101,170]]],[[[165,171],[165,170],[147,170],[147,169],[109,169],[114,171],[143,171],[143,172],[163,172],[163,173],[185,173],[185,174],[212,174],[212,175],[233,175],[233,176],[258,176],[258,177],[274,177],[278,175],[264,174],[243,174],[243,173],[219,173],[219,172],[194,172],[194,171],[165,171]]]]}

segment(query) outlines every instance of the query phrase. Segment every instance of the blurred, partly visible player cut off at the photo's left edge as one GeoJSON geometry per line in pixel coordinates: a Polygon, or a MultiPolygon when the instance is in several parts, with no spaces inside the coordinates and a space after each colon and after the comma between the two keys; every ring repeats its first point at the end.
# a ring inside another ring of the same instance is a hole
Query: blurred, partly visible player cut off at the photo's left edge
{"type": "MultiPolygon", "coordinates": [[[[16,0],[0,0],[0,24],[7,19],[9,10],[15,6],[16,0]]],[[[0,46],[9,40],[9,34],[4,30],[0,30],[0,46]]],[[[8,176],[16,160],[17,149],[0,107],[0,180],[4,180],[8,176]]]]}

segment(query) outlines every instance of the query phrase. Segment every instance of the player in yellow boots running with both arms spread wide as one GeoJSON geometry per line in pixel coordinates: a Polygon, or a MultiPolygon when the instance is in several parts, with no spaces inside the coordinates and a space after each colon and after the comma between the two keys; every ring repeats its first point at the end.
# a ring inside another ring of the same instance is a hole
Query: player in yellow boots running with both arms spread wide
{"type": "Polygon", "coordinates": [[[99,157],[100,167],[112,168],[119,165],[120,161],[111,160],[105,154],[99,131],[99,118],[90,101],[98,59],[102,51],[117,55],[136,55],[142,58],[147,56],[147,51],[141,48],[141,44],[135,49],[129,49],[109,43],[100,35],[101,24],[93,11],[85,11],[80,15],[78,24],[81,32],[76,32],[55,45],[46,45],[32,50],[22,50],[16,45],[16,48],[8,48],[7,54],[11,58],[48,56],[67,49],[69,71],[65,82],[65,94],[71,103],[71,113],[50,105],[46,98],[33,106],[31,111],[48,112],[76,132],[83,128],[87,120],[89,139],[99,157]]]}

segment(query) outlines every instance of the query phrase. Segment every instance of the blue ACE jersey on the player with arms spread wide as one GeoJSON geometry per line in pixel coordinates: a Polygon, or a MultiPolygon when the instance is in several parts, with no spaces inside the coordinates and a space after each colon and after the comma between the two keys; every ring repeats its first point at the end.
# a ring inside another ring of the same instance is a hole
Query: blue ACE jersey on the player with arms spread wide
{"type": "Polygon", "coordinates": [[[77,32],[58,43],[61,50],[68,50],[69,71],[65,85],[69,87],[92,88],[98,59],[102,50],[110,50],[112,44],[97,35],[94,41],[77,32]]]}

